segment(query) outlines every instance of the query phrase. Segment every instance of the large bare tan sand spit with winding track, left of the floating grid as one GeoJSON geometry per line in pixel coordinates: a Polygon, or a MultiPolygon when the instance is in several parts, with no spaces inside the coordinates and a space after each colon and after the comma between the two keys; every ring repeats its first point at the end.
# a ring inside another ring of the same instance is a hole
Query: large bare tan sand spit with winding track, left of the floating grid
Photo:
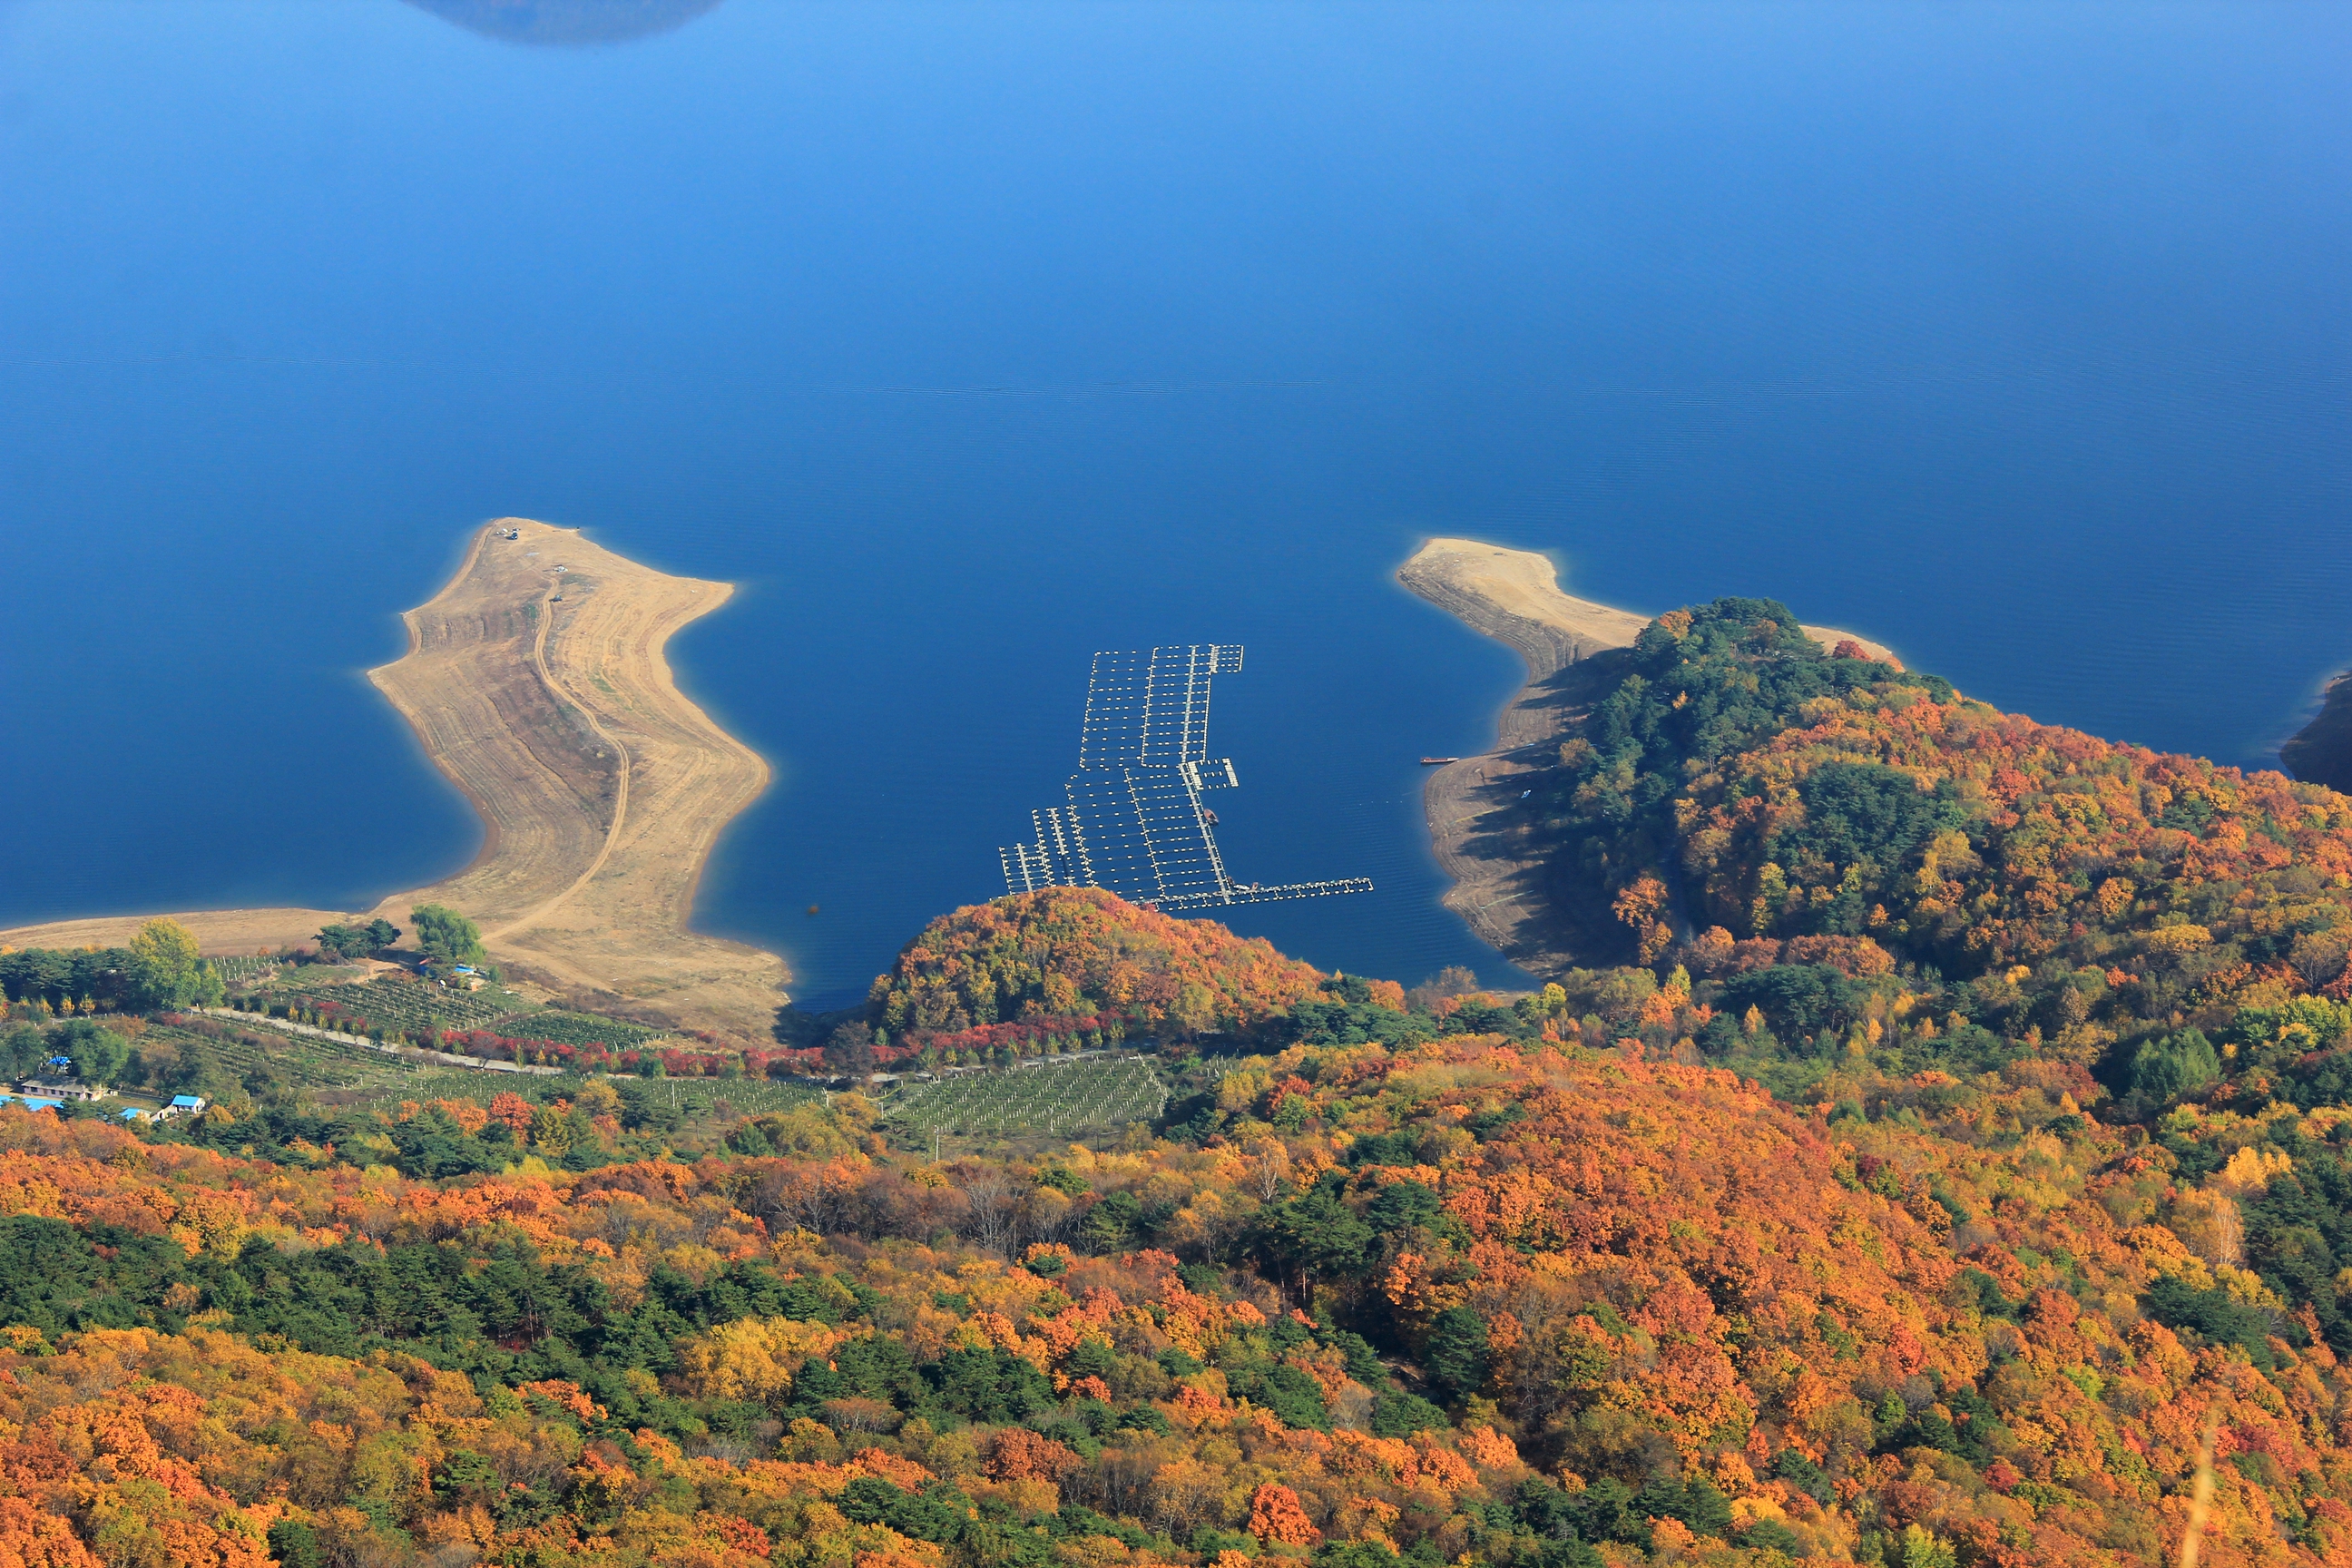
{"type": "MultiPolygon", "coordinates": [[[[447,903],[482,924],[492,959],[583,1004],[767,1034],[786,999],[783,959],[687,922],[713,842],[769,769],[677,691],[663,658],[670,635],[729,592],[572,529],[522,517],[485,527],[449,585],[405,616],[409,654],[369,670],[480,811],[482,851],[374,912],[405,926],[412,905],[447,903]]],[[[52,922],[0,931],[0,943],[113,943],[139,919],[52,922]]],[[[252,952],[308,940],[343,914],[176,919],[207,952],[252,952]]]]}

